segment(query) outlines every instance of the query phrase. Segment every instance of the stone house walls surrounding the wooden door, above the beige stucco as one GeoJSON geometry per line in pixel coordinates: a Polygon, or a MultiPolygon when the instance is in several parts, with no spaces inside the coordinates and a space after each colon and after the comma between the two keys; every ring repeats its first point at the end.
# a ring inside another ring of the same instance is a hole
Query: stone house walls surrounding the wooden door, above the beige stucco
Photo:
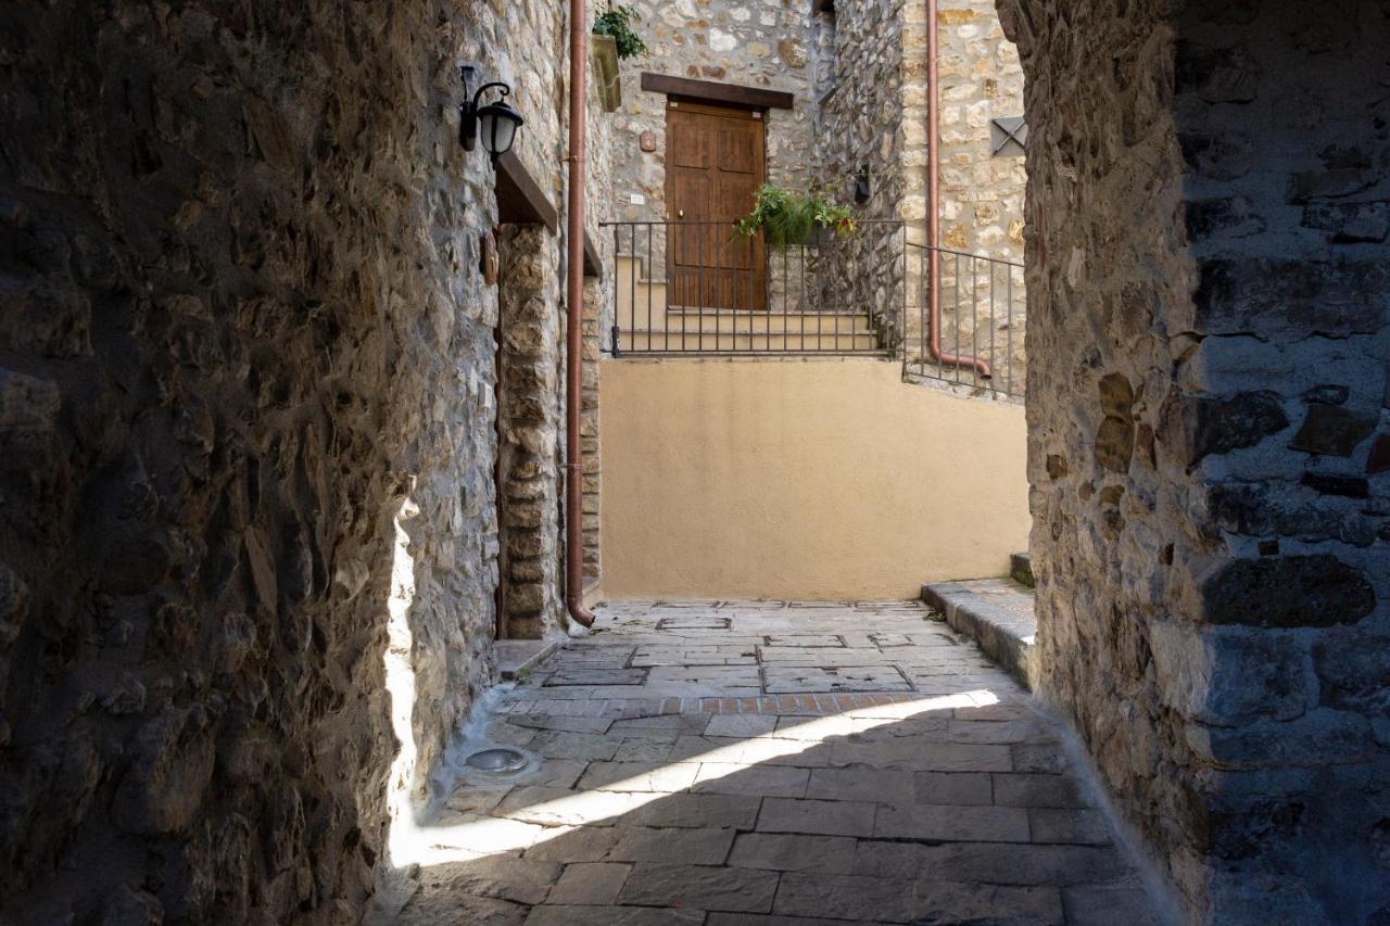
{"type": "MultiPolygon", "coordinates": [[[[987,0],[948,0],[944,7],[944,239],[962,250],[1017,259],[1022,159],[990,156],[990,117],[1022,113],[1022,70],[987,0]]],[[[851,203],[855,181],[867,168],[870,193],[855,206],[863,224],[853,239],[806,252],[769,249],[770,304],[774,311],[784,306],[790,311],[869,310],[884,342],[895,343],[906,303],[906,341],[916,345],[926,302],[920,250],[903,259],[902,236],[873,222],[905,220],[908,241],[926,241],[924,4],[860,0],[821,14],[737,1],[638,4],[638,10],[653,51],[626,65],[626,107],[614,135],[617,214],[631,221],[666,218],[664,147],[659,142],[655,152],[642,153],[637,145],[646,131],[662,139],[666,97],[641,92],[642,70],[790,90],[795,108],[767,113],[769,179],[798,189],[817,186],[830,199],[851,203]],[[803,298],[802,289],[813,298],[803,298]]],[[[630,232],[621,234],[626,242],[630,232]]],[[[649,275],[660,279],[662,231],[653,242],[648,256],[642,229],[635,247],[649,257],[649,275]]],[[[944,271],[949,274],[952,267],[944,271]]],[[[1022,384],[1024,281],[1020,271],[1013,273],[1016,317],[1011,325],[1009,271],[994,271],[992,304],[988,285],[966,282],[958,288],[954,277],[944,279],[947,339],[959,338],[965,345],[977,339],[979,353],[1001,367],[1012,357],[1013,378],[1022,384]]]]}

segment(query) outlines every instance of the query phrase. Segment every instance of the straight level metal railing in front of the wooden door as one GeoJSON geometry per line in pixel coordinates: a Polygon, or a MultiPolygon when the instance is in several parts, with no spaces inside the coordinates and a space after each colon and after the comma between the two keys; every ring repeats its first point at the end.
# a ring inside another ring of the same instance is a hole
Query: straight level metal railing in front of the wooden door
{"type": "Polygon", "coordinates": [[[805,243],[741,238],[733,221],[605,222],[613,229],[614,318],[624,355],[872,355],[902,342],[902,221],[856,222],[805,243]]]}

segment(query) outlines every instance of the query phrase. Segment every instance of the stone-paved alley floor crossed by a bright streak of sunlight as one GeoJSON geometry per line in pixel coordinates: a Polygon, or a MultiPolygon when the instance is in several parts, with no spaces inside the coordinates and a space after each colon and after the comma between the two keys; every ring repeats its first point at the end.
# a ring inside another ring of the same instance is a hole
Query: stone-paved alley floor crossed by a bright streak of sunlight
{"type": "Polygon", "coordinates": [[[917,603],[599,609],[489,719],[400,923],[1159,922],[1026,692],[917,603]],[[480,744],[481,745],[481,744],[480,744]]]}

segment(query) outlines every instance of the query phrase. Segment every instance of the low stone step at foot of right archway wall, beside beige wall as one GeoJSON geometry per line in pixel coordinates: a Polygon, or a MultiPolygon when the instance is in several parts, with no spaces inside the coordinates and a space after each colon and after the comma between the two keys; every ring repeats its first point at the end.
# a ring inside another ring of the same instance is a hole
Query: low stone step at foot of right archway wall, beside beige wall
{"type": "Polygon", "coordinates": [[[1012,578],[977,578],[922,587],[922,601],[945,615],[994,662],[1030,690],[1037,679],[1033,590],[1012,578]]]}

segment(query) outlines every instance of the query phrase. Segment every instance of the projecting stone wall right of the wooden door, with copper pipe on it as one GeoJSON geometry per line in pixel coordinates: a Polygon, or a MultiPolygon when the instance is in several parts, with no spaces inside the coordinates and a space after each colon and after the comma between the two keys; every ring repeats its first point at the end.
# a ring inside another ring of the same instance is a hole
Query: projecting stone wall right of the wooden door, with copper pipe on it
{"type": "MultiPolygon", "coordinates": [[[[821,177],[834,196],[849,202],[855,177],[867,167],[870,195],[855,209],[859,218],[867,220],[858,243],[841,246],[831,259],[835,270],[827,274],[831,282],[821,292],[821,302],[872,307],[885,321],[895,321],[905,303],[905,346],[909,362],[916,363],[924,343],[926,254],[908,247],[903,260],[898,236],[874,228],[872,221],[903,220],[908,242],[926,242],[926,4],[842,3],[833,22],[833,31],[820,32],[834,43],[833,54],[823,53],[821,67],[835,75],[830,82],[834,89],[821,97],[817,113],[821,177]]],[[[986,0],[944,0],[938,10],[938,38],[942,245],[1020,261],[1023,160],[992,157],[990,142],[992,117],[1023,110],[1017,53],[986,0]]],[[[976,353],[998,367],[1001,385],[1012,373],[1016,391],[1022,391],[1026,293],[1022,271],[984,261],[962,261],[958,268],[954,259],[947,259],[941,273],[947,349],[959,341],[962,353],[976,353]]],[[[890,341],[897,339],[895,332],[885,334],[890,341]]],[[[954,368],[933,368],[941,375],[955,375],[954,368]]]]}

